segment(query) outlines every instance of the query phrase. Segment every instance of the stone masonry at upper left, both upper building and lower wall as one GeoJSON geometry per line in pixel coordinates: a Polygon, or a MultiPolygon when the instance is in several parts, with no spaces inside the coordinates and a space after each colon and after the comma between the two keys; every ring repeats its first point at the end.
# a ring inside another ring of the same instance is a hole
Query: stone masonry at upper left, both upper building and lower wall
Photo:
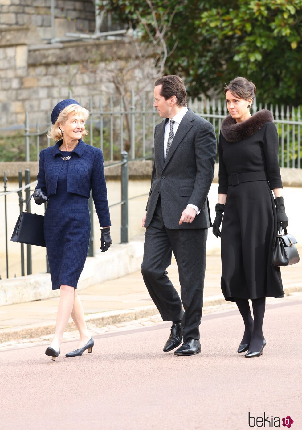
{"type": "MultiPolygon", "coordinates": [[[[101,31],[108,30],[104,19],[101,31]]],[[[112,50],[126,59],[123,40],[66,40],[68,33],[93,34],[92,0],[55,0],[56,43],[50,43],[50,0],[0,0],[0,127],[45,123],[63,98],[81,99],[110,91],[106,59],[112,50]]]]}

